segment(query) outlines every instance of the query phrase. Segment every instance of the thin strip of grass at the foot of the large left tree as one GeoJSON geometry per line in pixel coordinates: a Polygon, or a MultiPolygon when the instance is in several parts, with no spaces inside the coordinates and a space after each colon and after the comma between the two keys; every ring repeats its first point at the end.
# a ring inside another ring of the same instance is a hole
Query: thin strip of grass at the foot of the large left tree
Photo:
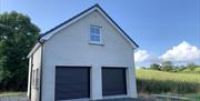
{"type": "Polygon", "coordinates": [[[0,98],[4,97],[26,97],[27,92],[0,92],[0,98]]]}

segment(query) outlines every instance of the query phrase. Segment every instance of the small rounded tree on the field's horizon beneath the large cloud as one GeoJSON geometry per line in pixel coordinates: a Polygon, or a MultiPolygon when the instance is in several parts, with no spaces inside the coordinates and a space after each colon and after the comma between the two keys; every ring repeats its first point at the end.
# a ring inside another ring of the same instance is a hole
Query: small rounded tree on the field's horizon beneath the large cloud
{"type": "Polygon", "coordinates": [[[173,70],[173,63],[171,61],[163,61],[161,63],[161,70],[162,71],[172,71],[173,70]]]}

